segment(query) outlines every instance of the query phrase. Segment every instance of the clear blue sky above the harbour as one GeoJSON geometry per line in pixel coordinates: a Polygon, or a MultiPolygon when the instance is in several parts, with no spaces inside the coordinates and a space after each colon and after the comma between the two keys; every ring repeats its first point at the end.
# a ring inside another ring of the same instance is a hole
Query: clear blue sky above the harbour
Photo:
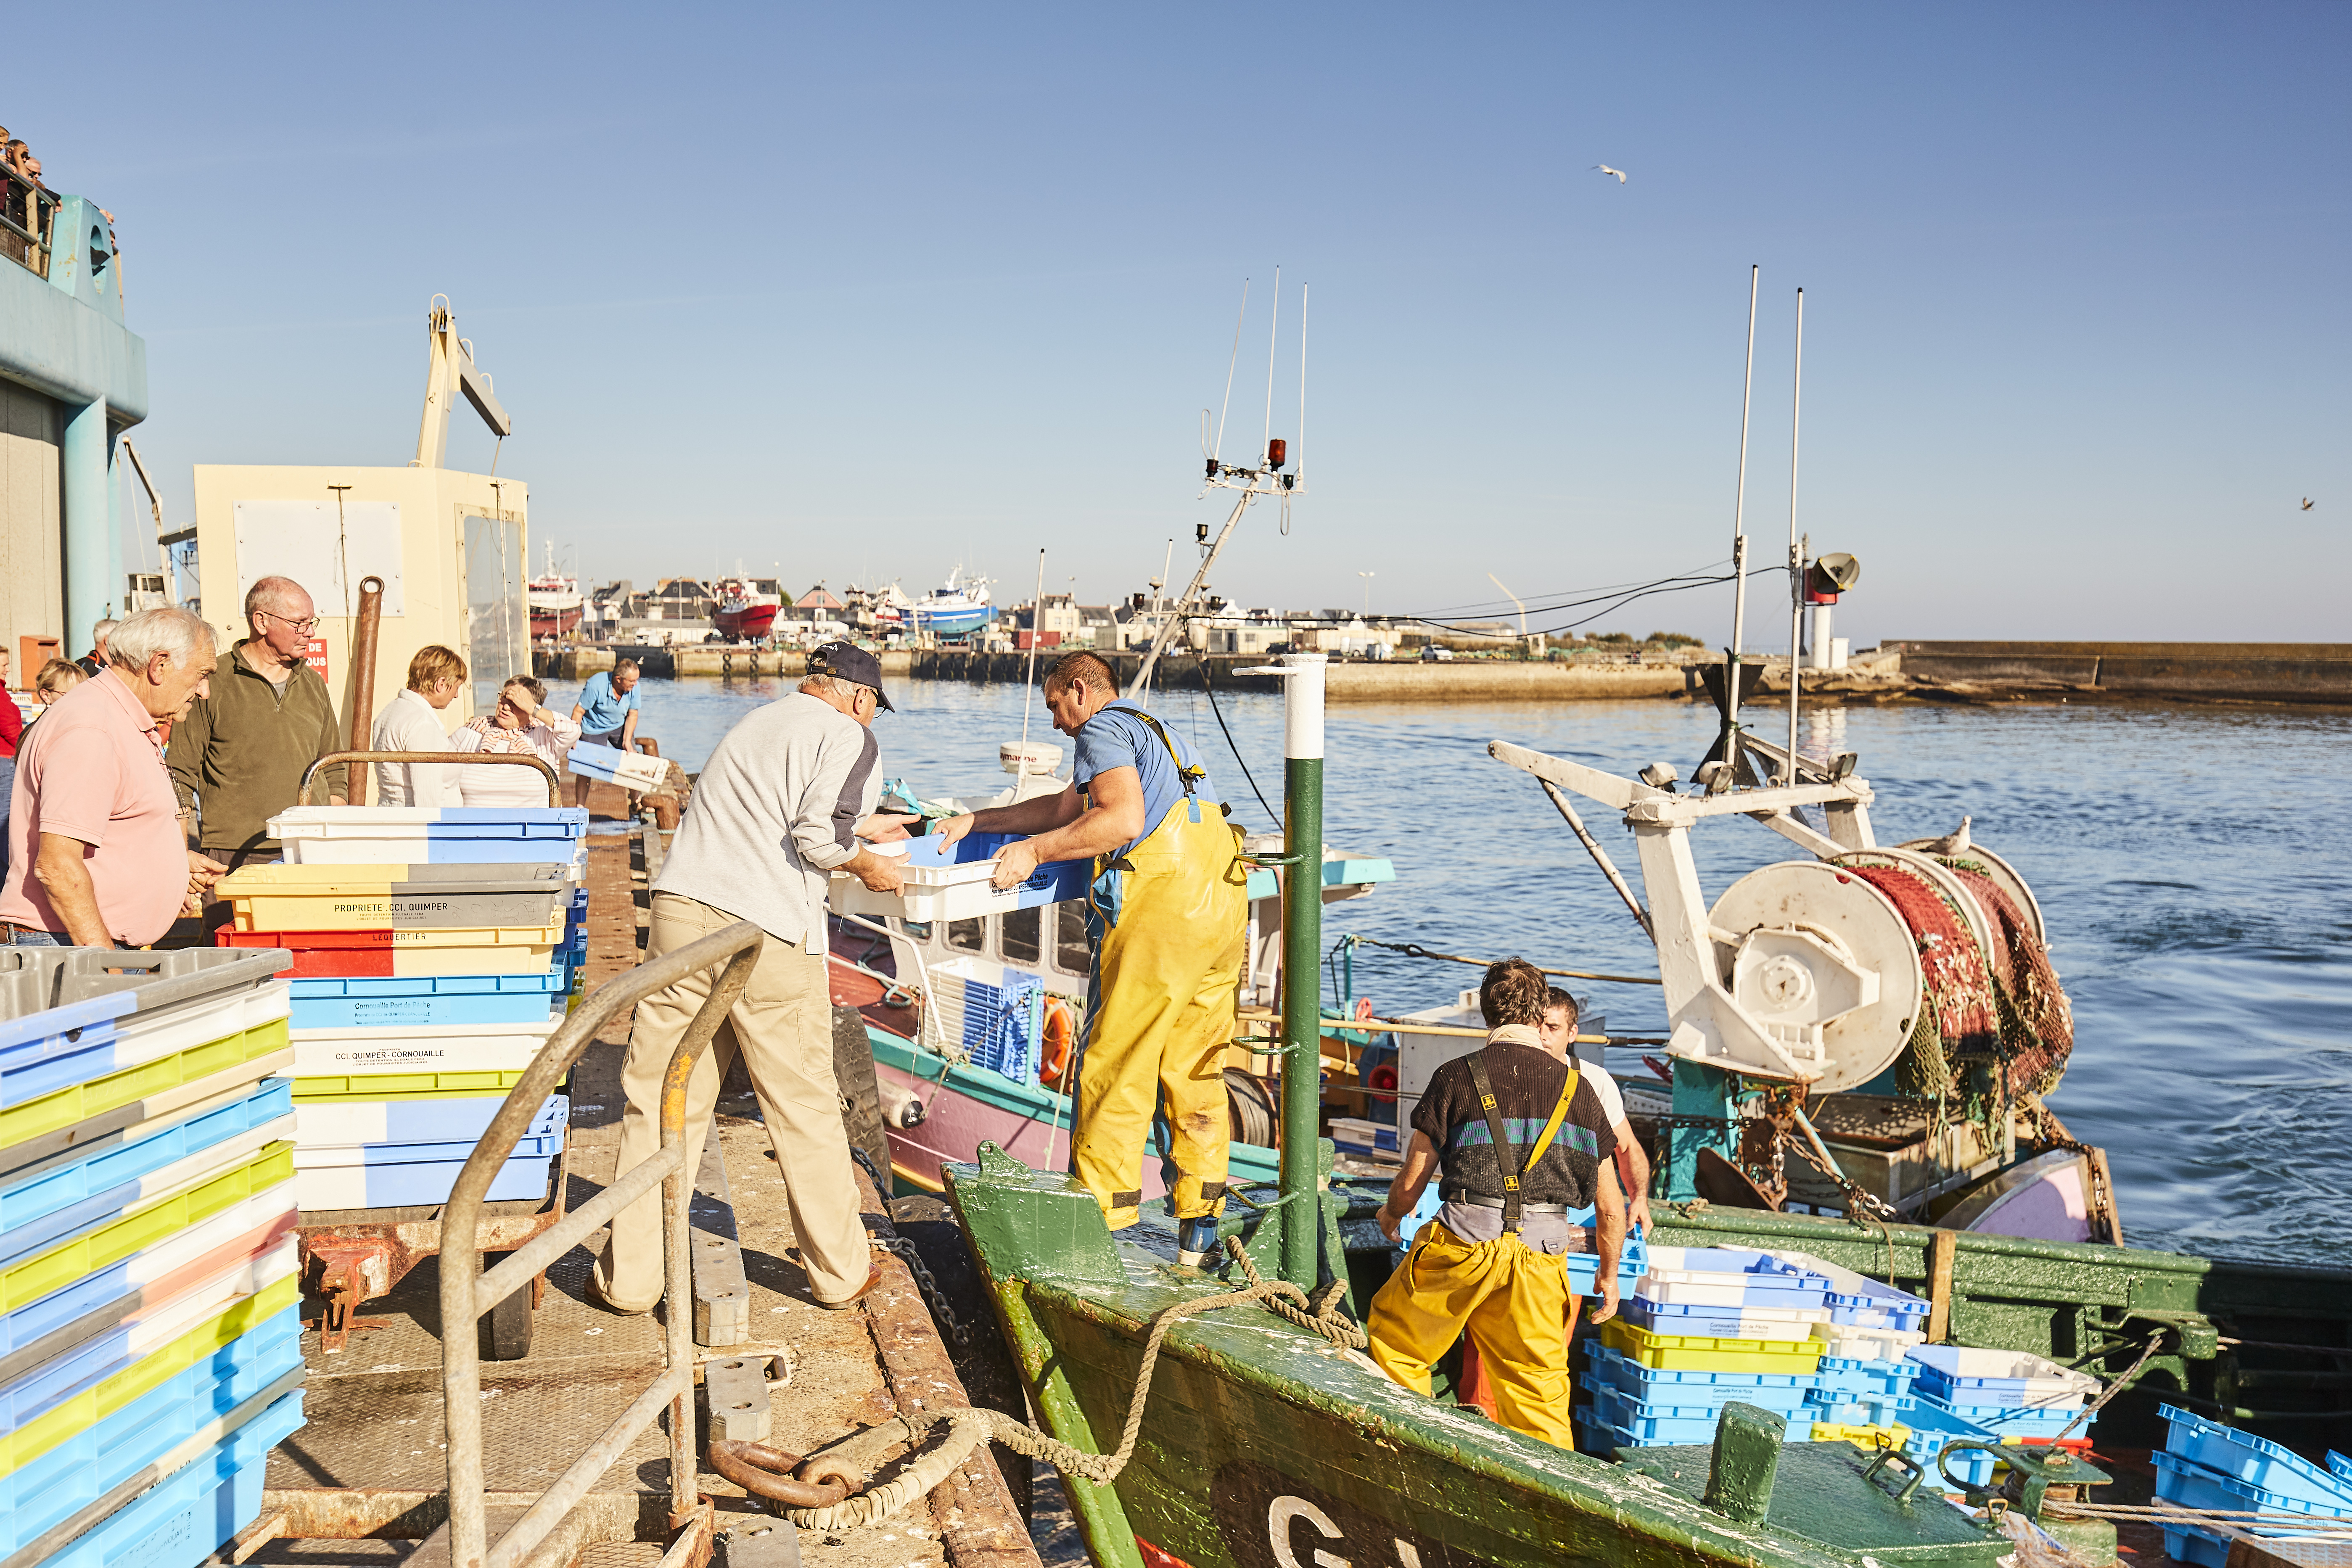
{"type": "MultiPolygon", "coordinates": [[[[1858,644],[2352,639],[2345,7],[68,21],[21,54],[89,68],[14,73],[0,118],[120,219],[174,520],[191,463],[405,463],[442,292],[499,470],[593,576],[964,562],[1009,599],[1044,548],[1105,599],[1223,515],[1200,409],[1249,275],[1228,456],[1258,440],[1282,263],[1310,496],[1218,588],[1566,597],[1729,557],[1757,263],[1755,557],[1804,284],[1799,522],[1863,557],[1858,644]]],[[[461,411],[452,463],[487,461],[461,411]]]]}

